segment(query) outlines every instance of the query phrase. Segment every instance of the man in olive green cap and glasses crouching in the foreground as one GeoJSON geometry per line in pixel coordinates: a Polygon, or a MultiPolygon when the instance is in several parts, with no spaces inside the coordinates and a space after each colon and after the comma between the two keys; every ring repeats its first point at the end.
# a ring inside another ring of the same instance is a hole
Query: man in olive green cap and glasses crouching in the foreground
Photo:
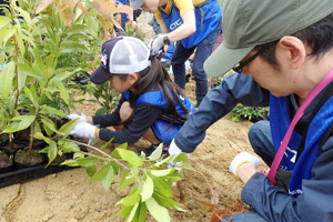
{"type": "Polygon", "coordinates": [[[241,200],[254,209],[232,221],[333,221],[333,1],[225,0],[223,11],[223,42],[204,70],[235,73],[209,91],[170,155],[193,152],[238,103],[269,105],[270,120],[249,139],[270,169],[258,172],[260,159],[248,152],[231,160],[241,200]]]}

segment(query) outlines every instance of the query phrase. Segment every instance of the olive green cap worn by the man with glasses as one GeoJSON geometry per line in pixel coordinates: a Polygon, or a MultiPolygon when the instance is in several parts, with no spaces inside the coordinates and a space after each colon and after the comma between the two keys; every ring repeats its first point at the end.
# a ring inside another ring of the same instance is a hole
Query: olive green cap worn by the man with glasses
{"type": "Polygon", "coordinates": [[[224,74],[255,46],[295,33],[332,12],[333,0],[225,0],[223,41],[204,62],[204,71],[224,74]]]}

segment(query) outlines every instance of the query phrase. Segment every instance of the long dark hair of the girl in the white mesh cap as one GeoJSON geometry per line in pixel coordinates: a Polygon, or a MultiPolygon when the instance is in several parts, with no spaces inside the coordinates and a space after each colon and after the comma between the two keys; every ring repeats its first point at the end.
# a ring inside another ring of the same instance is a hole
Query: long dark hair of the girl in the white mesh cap
{"type": "MultiPolygon", "coordinates": [[[[191,112],[191,110],[186,110],[186,108],[183,105],[183,103],[180,100],[179,95],[182,95],[185,98],[185,94],[183,90],[175,84],[171,78],[169,77],[169,73],[167,69],[163,67],[163,64],[154,57],[151,57],[151,65],[145,68],[144,70],[137,73],[138,74],[138,81],[134,83],[135,92],[132,92],[130,95],[131,101],[134,101],[133,103],[133,112],[130,115],[128,120],[123,122],[124,128],[127,128],[132,118],[134,117],[135,109],[137,109],[137,101],[141,94],[144,94],[151,89],[157,89],[164,92],[165,100],[168,108],[173,115],[173,120],[170,123],[168,130],[170,127],[174,123],[176,118],[186,119],[191,112]],[[176,102],[181,105],[181,109],[186,113],[186,115],[180,115],[175,110],[175,103],[173,101],[172,94],[174,95],[174,99],[176,102]]],[[[124,80],[128,75],[119,74],[118,75],[121,80],[124,80]]]]}

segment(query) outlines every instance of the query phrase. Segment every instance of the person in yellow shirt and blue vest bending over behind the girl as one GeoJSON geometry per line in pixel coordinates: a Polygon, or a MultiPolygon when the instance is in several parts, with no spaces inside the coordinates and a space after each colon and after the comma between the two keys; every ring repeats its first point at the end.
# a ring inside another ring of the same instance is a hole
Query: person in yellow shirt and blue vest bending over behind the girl
{"type": "Polygon", "coordinates": [[[171,59],[174,82],[185,89],[185,67],[195,52],[192,74],[199,107],[208,92],[208,75],[203,62],[211,54],[222,30],[222,9],[216,0],[131,0],[130,7],[154,13],[162,36],[154,41],[153,52],[168,51],[171,42],[179,41],[171,59]]]}

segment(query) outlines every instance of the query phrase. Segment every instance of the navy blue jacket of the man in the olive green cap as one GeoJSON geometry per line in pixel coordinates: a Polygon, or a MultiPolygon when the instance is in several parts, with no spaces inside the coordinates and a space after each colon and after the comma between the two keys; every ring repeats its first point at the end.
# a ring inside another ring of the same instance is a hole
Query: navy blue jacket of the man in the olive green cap
{"type": "MultiPolygon", "coordinates": [[[[320,97],[322,97],[322,93],[317,94],[317,98],[320,97]]],[[[307,107],[296,127],[306,125],[317,98],[307,107]]],[[[205,130],[228,114],[238,103],[248,107],[269,107],[270,92],[261,88],[250,74],[234,73],[223,78],[222,83],[210,90],[204,97],[200,109],[188,118],[174,142],[182,151],[193,152],[204,139],[205,130]]],[[[325,121],[331,121],[331,119],[324,118],[319,123],[325,121]]],[[[315,131],[316,128],[313,127],[313,130],[315,131]]],[[[316,149],[315,145],[311,147],[316,149]]],[[[306,152],[302,153],[299,161],[303,154],[306,157],[306,152]]],[[[300,164],[300,170],[304,167],[309,172],[305,164],[305,161],[302,165],[300,164]]],[[[330,137],[322,147],[322,154],[315,158],[313,165],[311,164],[311,179],[302,181],[302,194],[297,196],[290,195],[287,192],[272,185],[268,176],[258,172],[244,185],[241,199],[253,205],[268,221],[333,221],[332,169],[333,137],[330,137]]]]}

